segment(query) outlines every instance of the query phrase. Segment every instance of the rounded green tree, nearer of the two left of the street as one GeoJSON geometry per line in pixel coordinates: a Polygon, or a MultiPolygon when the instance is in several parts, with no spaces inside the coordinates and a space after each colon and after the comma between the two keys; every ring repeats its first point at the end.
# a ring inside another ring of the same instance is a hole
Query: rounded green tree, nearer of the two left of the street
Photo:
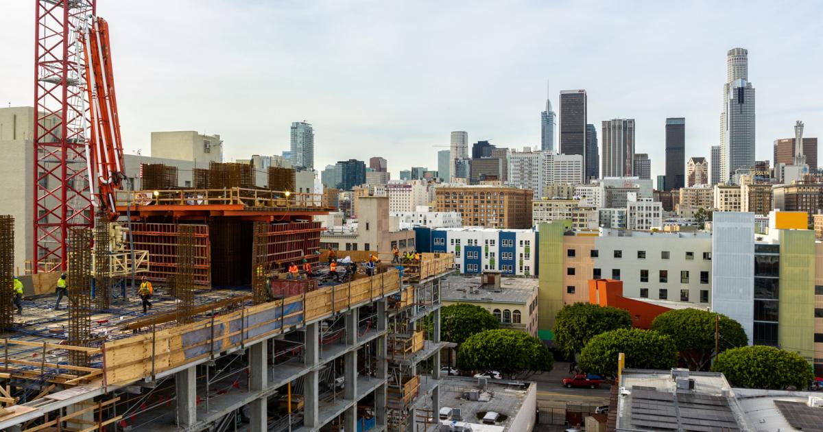
{"type": "Polygon", "coordinates": [[[500,328],[468,337],[458,350],[458,368],[497,370],[510,378],[525,379],[551,370],[554,358],[537,337],[500,328]]]}

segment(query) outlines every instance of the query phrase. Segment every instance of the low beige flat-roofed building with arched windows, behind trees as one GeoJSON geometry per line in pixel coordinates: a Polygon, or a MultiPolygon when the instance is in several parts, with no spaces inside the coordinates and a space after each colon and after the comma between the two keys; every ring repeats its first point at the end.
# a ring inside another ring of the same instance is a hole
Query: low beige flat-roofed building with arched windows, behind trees
{"type": "Polygon", "coordinates": [[[440,301],[474,304],[500,320],[501,327],[537,337],[537,278],[502,277],[486,271],[481,276],[447,276],[440,281],[440,301]]]}

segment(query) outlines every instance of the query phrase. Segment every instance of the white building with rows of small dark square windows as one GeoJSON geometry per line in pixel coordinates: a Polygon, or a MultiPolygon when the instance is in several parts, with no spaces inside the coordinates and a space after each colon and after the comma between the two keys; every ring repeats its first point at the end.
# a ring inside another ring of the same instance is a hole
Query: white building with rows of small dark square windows
{"type": "Polygon", "coordinates": [[[709,233],[602,230],[594,241],[594,278],[624,281],[623,295],[711,304],[712,237],[709,233]]]}

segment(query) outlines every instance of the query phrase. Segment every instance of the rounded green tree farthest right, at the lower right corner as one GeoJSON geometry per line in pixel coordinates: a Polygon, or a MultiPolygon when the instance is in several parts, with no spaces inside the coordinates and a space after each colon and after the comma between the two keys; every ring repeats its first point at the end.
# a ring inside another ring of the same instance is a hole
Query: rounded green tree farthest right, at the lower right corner
{"type": "Polygon", "coordinates": [[[774,346],[742,346],[721,352],[712,365],[735,387],[805,390],[814,374],[799,354],[774,346]]]}

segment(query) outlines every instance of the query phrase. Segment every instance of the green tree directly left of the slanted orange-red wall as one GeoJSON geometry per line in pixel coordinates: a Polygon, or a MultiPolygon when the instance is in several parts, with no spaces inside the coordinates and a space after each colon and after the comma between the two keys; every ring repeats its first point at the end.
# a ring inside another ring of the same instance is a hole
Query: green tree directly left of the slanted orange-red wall
{"type": "Polygon", "coordinates": [[[567,304],[555,318],[555,345],[566,355],[571,355],[582,350],[592,337],[618,328],[631,328],[631,315],[625,309],[588,303],[567,304]]]}

